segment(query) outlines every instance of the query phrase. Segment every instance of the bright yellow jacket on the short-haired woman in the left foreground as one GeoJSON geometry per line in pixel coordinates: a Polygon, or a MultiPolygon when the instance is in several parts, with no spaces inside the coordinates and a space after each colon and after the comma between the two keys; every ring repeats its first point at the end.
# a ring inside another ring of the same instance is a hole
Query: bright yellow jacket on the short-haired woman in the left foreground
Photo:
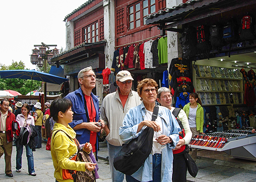
{"type": "Polygon", "coordinates": [[[60,123],[54,124],[51,136],[51,157],[55,169],[54,178],[58,182],[74,182],[72,175],[67,169],[85,171],[85,162],[75,161],[77,156],[77,145],[74,142],[75,136],[75,131],[69,125],[65,127],[60,123]],[[56,133],[57,130],[61,131],[56,133]],[[55,133],[56,135],[54,136],[55,133]]]}

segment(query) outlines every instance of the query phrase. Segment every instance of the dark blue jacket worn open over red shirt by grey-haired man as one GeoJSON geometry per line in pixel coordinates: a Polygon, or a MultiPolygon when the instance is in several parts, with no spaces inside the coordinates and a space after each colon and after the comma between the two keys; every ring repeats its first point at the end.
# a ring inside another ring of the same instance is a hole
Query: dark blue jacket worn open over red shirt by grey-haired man
{"type": "MultiPolygon", "coordinates": [[[[88,110],[86,108],[85,104],[85,99],[84,95],[82,93],[81,87],[69,94],[65,97],[66,99],[71,100],[73,106],[72,106],[72,111],[74,112],[73,114],[73,121],[71,123],[68,123],[71,128],[74,128],[77,124],[81,124],[83,122],[90,122],[87,119],[88,115],[88,110]]],[[[91,98],[96,110],[96,118],[95,122],[99,120],[99,101],[98,101],[98,96],[95,96],[93,93],[91,93],[91,98]]],[[[87,129],[79,129],[79,130],[74,130],[77,133],[77,140],[79,143],[86,143],[90,141],[90,130],[87,129]]],[[[96,139],[96,153],[98,151],[98,137],[100,136],[100,132],[97,133],[97,139],[96,139]]]]}

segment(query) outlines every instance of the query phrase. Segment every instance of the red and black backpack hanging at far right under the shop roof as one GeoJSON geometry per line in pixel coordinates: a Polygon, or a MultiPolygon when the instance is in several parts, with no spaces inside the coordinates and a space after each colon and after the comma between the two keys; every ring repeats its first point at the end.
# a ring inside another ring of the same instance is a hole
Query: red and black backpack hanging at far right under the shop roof
{"type": "Polygon", "coordinates": [[[243,16],[241,20],[241,26],[239,28],[239,36],[242,40],[255,39],[255,34],[253,31],[253,20],[252,16],[243,16]]]}

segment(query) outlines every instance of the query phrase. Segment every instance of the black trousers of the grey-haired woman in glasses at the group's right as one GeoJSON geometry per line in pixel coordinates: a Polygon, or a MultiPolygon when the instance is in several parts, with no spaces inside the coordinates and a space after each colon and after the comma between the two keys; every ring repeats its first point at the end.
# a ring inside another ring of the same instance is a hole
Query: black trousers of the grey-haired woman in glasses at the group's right
{"type": "Polygon", "coordinates": [[[187,181],[187,164],[184,154],[173,154],[172,182],[187,181]]]}

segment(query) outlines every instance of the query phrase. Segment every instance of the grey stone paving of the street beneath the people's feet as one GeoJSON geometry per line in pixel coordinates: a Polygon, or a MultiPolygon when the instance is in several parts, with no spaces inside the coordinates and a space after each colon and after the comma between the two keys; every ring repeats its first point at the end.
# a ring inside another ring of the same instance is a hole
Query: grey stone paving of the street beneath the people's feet
{"type": "MultiPolygon", "coordinates": [[[[45,145],[45,143],[42,143],[43,148],[34,152],[34,165],[37,176],[28,175],[25,148],[22,156],[22,170],[20,173],[16,172],[16,147],[13,146],[13,178],[5,175],[4,158],[2,157],[0,159],[0,182],[55,182],[51,151],[45,150],[45,145]]],[[[98,156],[100,179],[97,179],[97,182],[111,182],[109,164],[106,160],[108,156],[106,143],[100,143],[98,156]]],[[[256,182],[256,162],[254,161],[234,159],[223,152],[201,150],[198,153],[196,163],[199,166],[199,172],[196,178],[193,178],[188,173],[188,182],[256,182]]]]}

